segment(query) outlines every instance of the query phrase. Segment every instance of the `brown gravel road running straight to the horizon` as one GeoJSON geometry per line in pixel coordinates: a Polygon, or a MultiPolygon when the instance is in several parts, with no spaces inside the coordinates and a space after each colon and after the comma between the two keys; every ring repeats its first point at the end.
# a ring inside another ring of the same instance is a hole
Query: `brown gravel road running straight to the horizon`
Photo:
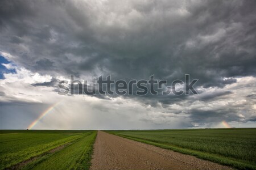
{"type": "Polygon", "coordinates": [[[231,169],[191,155],[98,131],[92,170],[98,169],[231,169]]]}

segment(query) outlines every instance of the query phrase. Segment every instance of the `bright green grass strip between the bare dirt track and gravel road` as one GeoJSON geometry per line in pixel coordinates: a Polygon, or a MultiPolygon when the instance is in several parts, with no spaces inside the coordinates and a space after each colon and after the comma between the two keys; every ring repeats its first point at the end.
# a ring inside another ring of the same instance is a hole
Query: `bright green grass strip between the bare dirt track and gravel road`
{"type": "Polygon", "coordinates": [[[96,131],[53,154],[42,156],[22,169],[89,169],[96,131]]]}

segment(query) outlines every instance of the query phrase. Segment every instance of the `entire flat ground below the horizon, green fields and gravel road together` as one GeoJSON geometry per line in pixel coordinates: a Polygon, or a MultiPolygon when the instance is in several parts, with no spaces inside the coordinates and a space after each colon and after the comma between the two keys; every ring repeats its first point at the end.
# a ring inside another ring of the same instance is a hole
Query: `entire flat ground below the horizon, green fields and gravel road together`
{"type": "Polygon", "coordinates": [[[0,130],[0,169],[256,169],[256,128],[0,130]]]}

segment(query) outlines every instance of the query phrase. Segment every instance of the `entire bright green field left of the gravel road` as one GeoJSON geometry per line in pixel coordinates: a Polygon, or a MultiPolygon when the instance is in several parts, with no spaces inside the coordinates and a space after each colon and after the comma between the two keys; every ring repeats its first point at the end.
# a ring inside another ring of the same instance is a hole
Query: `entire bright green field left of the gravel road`
{"type": "Polygon", "coordinates": [[[89,169],[96,131],[0,130],[0,169],[89,169]]]}

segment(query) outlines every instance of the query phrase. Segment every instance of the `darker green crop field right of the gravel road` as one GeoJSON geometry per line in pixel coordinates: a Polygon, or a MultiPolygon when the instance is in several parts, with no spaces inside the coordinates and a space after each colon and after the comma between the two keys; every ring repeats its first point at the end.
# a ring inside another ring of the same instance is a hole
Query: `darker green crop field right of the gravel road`
{"type": "Polygon", "coordinates": [[[256,169],[256,128],[106,132],[238,169],[256,169]]]}

